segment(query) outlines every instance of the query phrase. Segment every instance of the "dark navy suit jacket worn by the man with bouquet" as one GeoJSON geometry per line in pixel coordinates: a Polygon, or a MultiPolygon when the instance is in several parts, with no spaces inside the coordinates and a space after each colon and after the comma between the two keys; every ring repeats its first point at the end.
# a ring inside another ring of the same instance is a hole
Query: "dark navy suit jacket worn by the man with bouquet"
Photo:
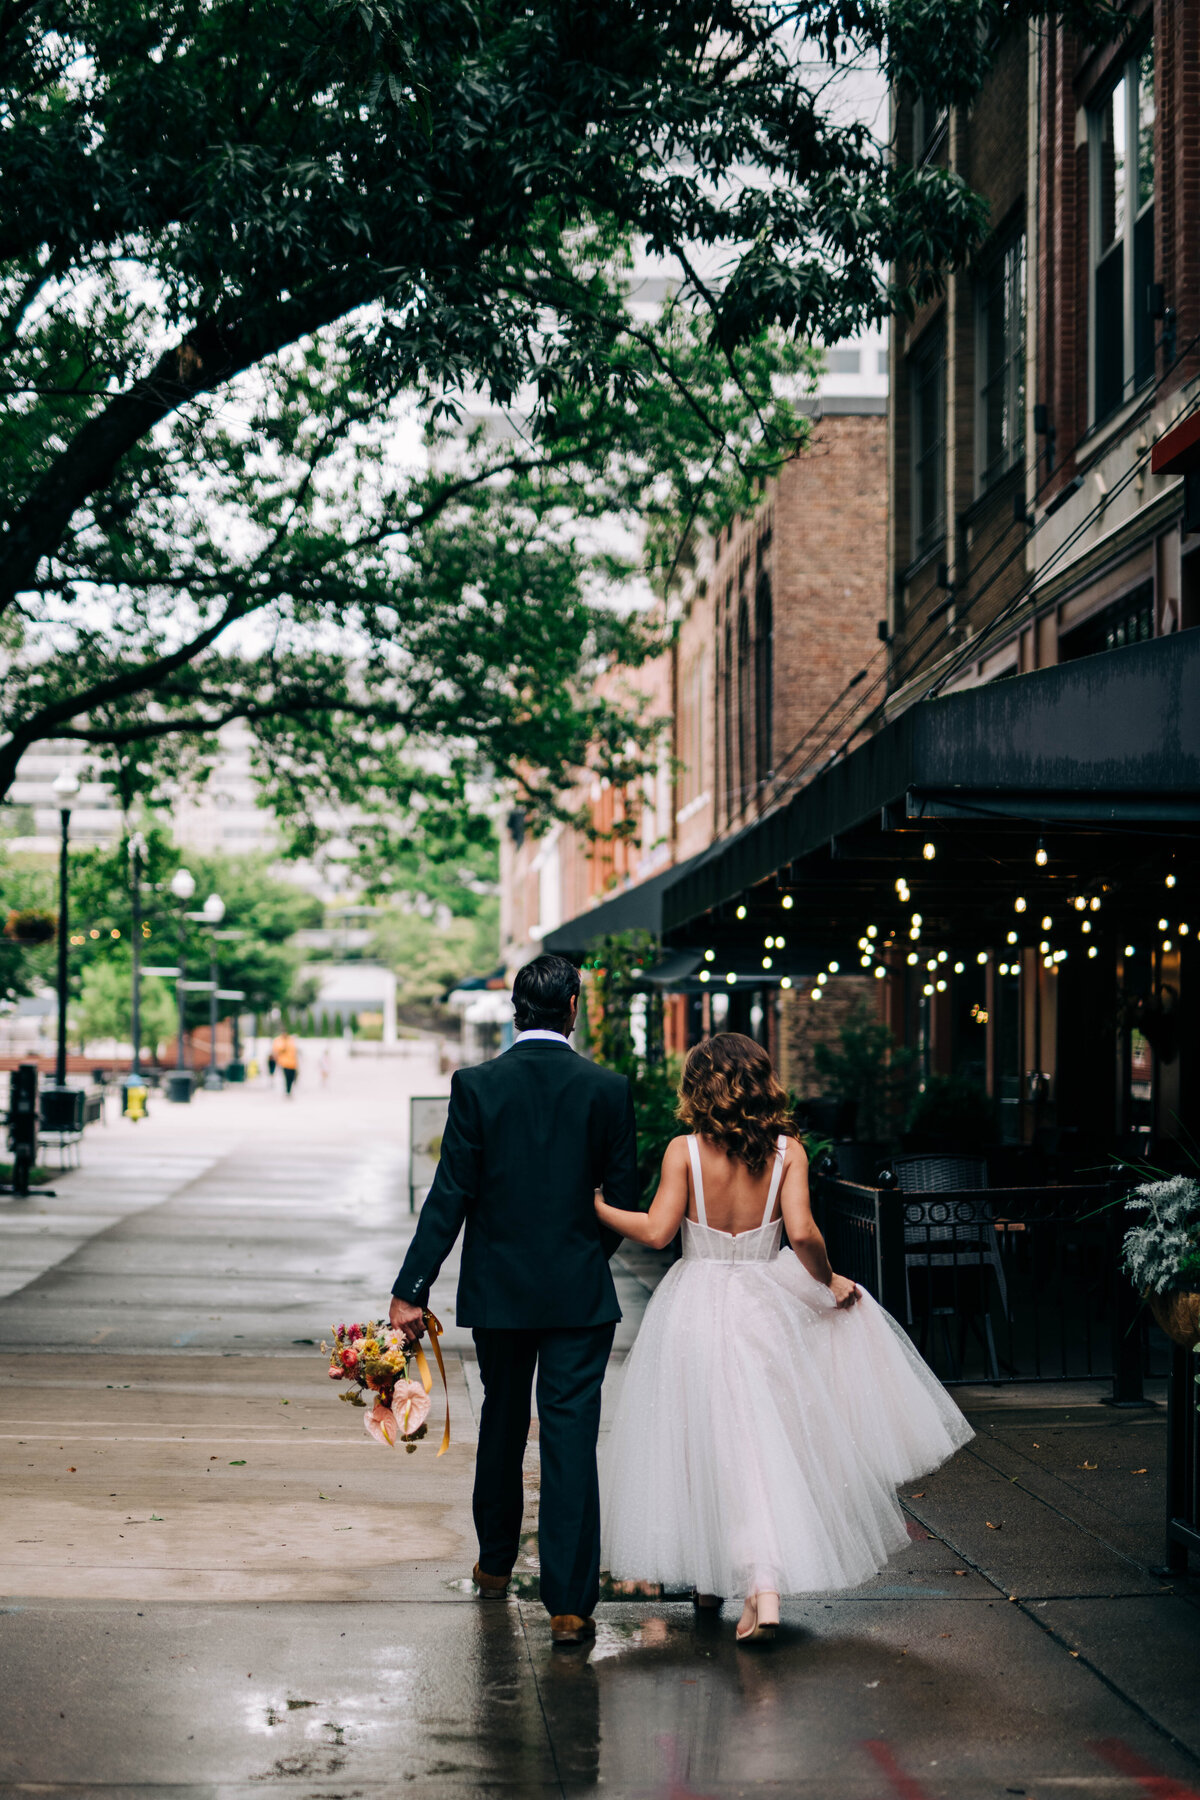
{"type": "Polygon", "coordinates": [[[466,1222],[459,1325],[536,1330],[621,1318],[592,1195],[637,1211],[637,1130],[624,1075],[561,1039],[525,1039],[459,1069],[434,1186],[392,1292],[425,1305],[466,1222]]]}

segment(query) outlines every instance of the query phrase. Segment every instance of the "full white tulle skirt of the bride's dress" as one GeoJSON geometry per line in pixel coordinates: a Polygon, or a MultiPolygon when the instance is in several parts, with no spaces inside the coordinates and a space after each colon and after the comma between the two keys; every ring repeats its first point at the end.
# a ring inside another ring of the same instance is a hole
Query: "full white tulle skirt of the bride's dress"
{"type": "Polygon", "coordinates": [[[869,1294],[838,1310],[790,1249],[664,1276],[601,1463],[603,1562],[700,1593],[856,1588],[907,1543],[896,1487],[972,1438],[869,1294]]]}

